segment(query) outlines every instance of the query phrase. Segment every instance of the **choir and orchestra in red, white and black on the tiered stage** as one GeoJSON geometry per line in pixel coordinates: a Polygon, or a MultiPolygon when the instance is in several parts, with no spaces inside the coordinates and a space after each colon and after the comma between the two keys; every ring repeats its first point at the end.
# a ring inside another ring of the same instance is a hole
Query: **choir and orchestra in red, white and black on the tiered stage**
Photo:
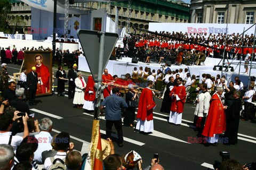
{"type": "MultiPolygon", "coordinates": [[[[246,55],[252,54],[253,35],[239,35],[239,33],[183,33],[159,32],[130,35],[123,38],[124,48],[116,48],[116,57],[137,57],[141,62],[161,63],[162,60],[178,64],[197,64],[205,57],[245,60],[246,55]],[[177,40],[178,39],[178,40],[177,40]],[[241,47],[242,46],[242,47],[241,47]],[[180,53],[182,52],[182,53],[180,53]],[[237,54],[237,55],[236,55],[237,54]]],[[[254,53],[256,49],[254,48],[254,53]]],[[[256,60],[256,58],[253,58],[256,60]]]]}

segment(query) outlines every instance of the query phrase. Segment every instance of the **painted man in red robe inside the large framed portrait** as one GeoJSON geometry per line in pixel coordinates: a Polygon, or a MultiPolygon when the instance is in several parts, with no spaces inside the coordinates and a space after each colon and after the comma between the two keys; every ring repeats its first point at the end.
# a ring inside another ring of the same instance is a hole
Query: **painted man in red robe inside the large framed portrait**
{"type": "Polygon", "coordinates": [[[36,73],[38,78],[38,84],[36,89],[36,94],[45,94],[50,92],[50,72],[47,66],[42,63],[42,56],[35,56],[36,62],[36,73]]]}

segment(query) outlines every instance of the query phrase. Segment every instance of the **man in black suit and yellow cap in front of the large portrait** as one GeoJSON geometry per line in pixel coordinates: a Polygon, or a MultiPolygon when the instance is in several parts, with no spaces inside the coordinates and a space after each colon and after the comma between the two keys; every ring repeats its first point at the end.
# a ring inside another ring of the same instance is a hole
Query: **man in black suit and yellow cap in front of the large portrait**
{"type": "Polygon", "coordinates": [[[27,75],[27,87],[29,90],[29,106],[37,105],[35,104],[36,89],[37,89],[37,73],[36,67],[32,67],[32,71],[27,75]]]}

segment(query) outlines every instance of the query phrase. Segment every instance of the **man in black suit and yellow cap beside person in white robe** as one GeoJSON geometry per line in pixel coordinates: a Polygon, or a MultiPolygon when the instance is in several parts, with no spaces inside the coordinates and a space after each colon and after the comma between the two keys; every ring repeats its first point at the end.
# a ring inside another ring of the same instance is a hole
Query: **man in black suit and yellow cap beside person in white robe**
{"type": "Polygon", "coordinates": [[[75,84],[75,79],[77,78],[77,65],[74,64],[73,65],[73,69],[70,69],[68,71],[68,98],[74,98],[75,96],[75,88],[76,88],[76,84],[75,84]]]}

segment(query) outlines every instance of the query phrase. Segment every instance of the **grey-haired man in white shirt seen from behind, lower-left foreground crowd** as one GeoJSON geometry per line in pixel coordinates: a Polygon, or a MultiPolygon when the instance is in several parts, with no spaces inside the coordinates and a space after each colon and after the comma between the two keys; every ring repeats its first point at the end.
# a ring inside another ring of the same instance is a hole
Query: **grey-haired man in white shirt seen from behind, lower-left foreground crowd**
{"type": "Polygon", "coordinates": [[[41,132],[36,134],[35,137],[38,140],[38,148],[35,151],[34,159],[37,164],[42,164],[42,152],[45,150],[51,150],[51,139],[52,135],[50,132],[52,131],[52,121],[50,118],[42,118],[40,121],[40,129],[41,132]]]}

